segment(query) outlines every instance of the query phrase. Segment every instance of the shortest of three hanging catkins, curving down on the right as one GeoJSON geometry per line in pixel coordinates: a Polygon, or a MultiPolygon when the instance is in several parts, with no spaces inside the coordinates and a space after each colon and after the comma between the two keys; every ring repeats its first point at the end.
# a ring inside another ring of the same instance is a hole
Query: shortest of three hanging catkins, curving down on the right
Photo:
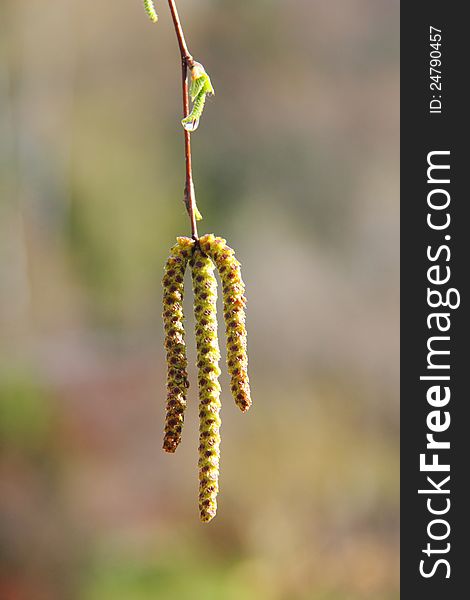
{"type": "Polygon", "coordinates": [[[202,251],[215,262],[222,281],[230,389],[237,406],[246,412],[251,406],[251,394],[246,348],[245,284],[240,263],[232,248],[220,237],[207,234],[200,238],[199,243],[202,251]]]}

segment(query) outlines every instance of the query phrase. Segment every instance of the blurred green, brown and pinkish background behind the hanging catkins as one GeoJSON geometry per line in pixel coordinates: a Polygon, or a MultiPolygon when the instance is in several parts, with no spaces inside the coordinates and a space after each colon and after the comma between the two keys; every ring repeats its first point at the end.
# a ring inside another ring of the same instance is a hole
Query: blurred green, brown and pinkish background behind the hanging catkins
{"type": "Polygon", "coordinates": [[[398,598],[398,0],[179,0],[216,88],[200,230],[243,263],[254,398],[224,375],[209,525],[195,386],[161,450],[161,276],[189,229],[156,4],[0,3],[0,598],[398,598]]]}

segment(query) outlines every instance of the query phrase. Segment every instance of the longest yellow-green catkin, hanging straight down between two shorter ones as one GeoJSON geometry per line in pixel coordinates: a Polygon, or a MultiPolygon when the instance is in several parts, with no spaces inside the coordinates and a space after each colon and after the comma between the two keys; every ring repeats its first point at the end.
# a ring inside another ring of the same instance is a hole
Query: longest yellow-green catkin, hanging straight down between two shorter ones
{"type": "Polygon", "coordinates": [[[199,249],[191,259],[199,384],[199,513],[208,522],[217,511],[220,457],[219,342],[214,264],[199,249]]]}

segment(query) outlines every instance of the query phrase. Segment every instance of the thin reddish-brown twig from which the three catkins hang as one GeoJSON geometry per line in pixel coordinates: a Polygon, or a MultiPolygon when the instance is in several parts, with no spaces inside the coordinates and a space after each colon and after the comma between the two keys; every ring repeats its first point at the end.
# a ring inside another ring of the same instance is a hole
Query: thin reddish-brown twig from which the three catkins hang
{"type": "MultiPolygon", "coordinates": [[[[194,59],[191,56],[186,39],[184,37],[183,28],[178,15],[178,9],[174,0],[168,0],[170,7],[171,18],[175,27],[178,46],[181,54],[181,74],[183,85],[183,118],[189,115],[189,86],[188,86],[188,67],[192,68],[194,59]]],[[[191,134],[184,130],[184,155],[186,159],[186,184],[184,187],[184,201],[188,211],[189,220],[191,222],[191,235],[193,239],[198,239],[197,224],[196,224],[196,198],[194,194],[193,173],[191,167],[191,134]]]]}

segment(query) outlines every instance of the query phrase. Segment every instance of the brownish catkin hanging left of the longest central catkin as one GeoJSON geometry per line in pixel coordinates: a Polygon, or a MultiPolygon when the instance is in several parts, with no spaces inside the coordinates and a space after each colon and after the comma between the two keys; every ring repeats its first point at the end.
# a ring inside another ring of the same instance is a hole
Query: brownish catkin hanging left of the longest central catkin
{"type": "Polygon", "coordinates": [[[194,250],[194,241],[179,237],[171,249],[163,277],[163,322],[167,360],[167,407],[163,449],[174,452],[181,431],[189,387],[186,344],[183,327],[183,293],[186,265],[194,250]]]}

